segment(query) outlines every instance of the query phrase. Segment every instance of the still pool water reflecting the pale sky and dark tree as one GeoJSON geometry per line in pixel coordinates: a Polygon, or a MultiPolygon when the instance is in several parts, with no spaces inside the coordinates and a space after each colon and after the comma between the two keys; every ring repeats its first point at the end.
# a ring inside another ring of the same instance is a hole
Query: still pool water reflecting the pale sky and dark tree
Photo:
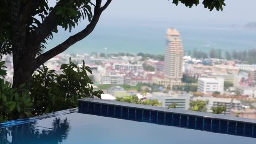
{"type": "Polygon", "coordinates": [[[256,144],[256,139],[71,113],[0,129],[0,144],[256,144]]]}

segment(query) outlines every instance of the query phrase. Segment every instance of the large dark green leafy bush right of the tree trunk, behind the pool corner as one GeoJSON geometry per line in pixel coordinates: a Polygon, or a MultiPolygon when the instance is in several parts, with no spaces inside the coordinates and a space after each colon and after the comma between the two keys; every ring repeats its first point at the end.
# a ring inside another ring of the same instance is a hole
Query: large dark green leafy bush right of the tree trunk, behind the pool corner
{"type": "Polygon", "coordinates": [[[48,70],[43,65],[33,75],[30,95],[34,115],[77,107],[77,99],[101,98],[102,91],[93,91],[93,82],[87,75],[91,69],[85,66],[84,61],[82,67],[78,67],[69,59],[69,64],[62,64],[60,69],[63,74],[57,75],[55,70],[48,70]]]}

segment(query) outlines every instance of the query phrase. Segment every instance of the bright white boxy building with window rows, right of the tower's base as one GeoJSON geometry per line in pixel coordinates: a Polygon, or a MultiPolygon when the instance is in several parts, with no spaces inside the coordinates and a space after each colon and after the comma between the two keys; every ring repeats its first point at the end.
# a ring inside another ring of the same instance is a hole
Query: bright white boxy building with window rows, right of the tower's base
{"type": "Polygon", "coordinates": [[[213,93],[215,91],[223,94],[224,79],[223,78],[208,78],[200,77],[197,82],[197,91],[200,93],[213,93]]]}

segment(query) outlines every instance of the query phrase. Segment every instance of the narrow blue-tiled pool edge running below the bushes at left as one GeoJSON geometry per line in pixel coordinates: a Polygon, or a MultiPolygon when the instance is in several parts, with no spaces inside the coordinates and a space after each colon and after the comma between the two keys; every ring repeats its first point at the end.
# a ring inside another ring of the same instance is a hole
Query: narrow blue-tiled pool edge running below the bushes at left
{"type": "Polygon", "coordinates": [[[66,114],[70,114],[70,113],[74,113],[74,112],[78,112],[78,108],[65,109],[65,110],[61,110],[61,111],[57,111],[57,112],[51,112],[51,113],[47,113],[44,115],[31,117],[31,118],[27,118],[27,119],[9,120],[4,123],[0,123],[0,128],[7,128],[7,127],[11,127],[11,126],[16,126],[16,125],[32,123],[37,120],[42,120],[42,119],[50,118],[50,117],[57,117],[60,115],[66,115],[66,114]]]}

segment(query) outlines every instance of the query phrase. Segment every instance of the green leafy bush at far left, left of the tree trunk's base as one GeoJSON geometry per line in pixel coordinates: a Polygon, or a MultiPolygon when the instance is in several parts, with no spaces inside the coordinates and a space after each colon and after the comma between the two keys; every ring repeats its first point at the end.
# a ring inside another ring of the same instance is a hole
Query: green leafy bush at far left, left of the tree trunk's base
{"type": "Polygon", "coordinates": [[[30,116],[31,101],[25,85],[11,88],[11,83],[5,81],[5,62],[0,62],[0,122],[30,116]]]}

